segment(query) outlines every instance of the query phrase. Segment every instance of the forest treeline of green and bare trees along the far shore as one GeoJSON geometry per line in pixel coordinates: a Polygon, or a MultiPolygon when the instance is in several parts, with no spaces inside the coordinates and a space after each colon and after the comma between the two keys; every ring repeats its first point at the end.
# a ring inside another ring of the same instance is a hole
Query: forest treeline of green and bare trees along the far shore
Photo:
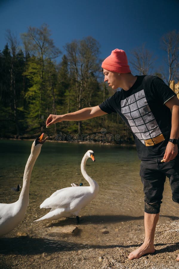
{"type": "MultiPolygon", "coordinates": [[[[100,72],[97,40],[88,36],[67,43],[59,64],[55,59],[61,51],[55,47],[46,24],[40,28],[29,27],[21,34],[21,43],[23,47],[19,48],[16,36],[8,30],[7,44],[0,51],[1,137],[32,138],[45,132],[58,140],[59,137],[67,140],[70,135],[70,140],[92,137],[104,142],[133,143],[131,132],[115,113],[85,121],[64,121],[46,129],[49,114],[97,106],[112,95],[100,72]]],[[[152,54],[144,47],[135,52],[131,64],[138,74],[147,74],[152,54]]],[[[174,63],[169,69],[170,80],[176,78],[178,66],[175,72],[172,68],[174,63]]]]}

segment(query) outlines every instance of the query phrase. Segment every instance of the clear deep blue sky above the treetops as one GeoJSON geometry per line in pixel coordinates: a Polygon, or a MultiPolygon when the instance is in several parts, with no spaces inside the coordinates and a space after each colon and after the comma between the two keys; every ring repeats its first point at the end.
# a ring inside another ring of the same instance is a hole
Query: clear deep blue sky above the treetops
{"type": "MultiPolygon", "coordinates": [[[[101,59],[115,48],[126,51],[145,43],[157,57],[156,67],[163,65],[163,34],[179,30],[178,0],[0,0],[0,50],[6,44],[6,29],[20,40],[29,26],[49,25],[55,45],[92,36],[101,45],[101,59]]],[[[57,62],[60,58],[57,59],[57,62]]],[[[155,67],[154,67],[155,70],[155,67]]]]}

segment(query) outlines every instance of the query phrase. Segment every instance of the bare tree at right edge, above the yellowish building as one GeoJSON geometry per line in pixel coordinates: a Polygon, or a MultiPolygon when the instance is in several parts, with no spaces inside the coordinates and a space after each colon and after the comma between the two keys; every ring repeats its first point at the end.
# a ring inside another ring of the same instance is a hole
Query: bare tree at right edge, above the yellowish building
{"type": "Polygon", "coordinates": [[[166,52],[166,57],[164,61],[168,66],[168,71],[163,74],[164,79],[167,81],[168,85],[172,80],[177,79],[178,68],[179,68],[179,32],[176,33],[175,30],[166,33],[162,37],[162,47],[166,52]]]}

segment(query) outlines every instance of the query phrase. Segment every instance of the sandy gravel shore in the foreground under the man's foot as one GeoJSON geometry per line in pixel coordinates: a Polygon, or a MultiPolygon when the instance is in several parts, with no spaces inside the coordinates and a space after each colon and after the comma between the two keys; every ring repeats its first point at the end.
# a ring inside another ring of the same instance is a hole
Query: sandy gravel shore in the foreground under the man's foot
{"type": "MultiPolygon", "coordinates": [[[[73,218],[68,223],[69,227],[74,227],[72,223],[73,218]]],[[[132,261],[127,256],[141,245],[143,236],[134,236],[135,241],[130,241],[126,236],[122,245],[113,245],[111,242],[103,246],[80,244],[70,240],[72,237],[78,238],[80,229],[83,229],[83,225],[77,227],[78,232],[74,235],[53,236],[47,232],[49,227],[45,224],[44,238],[42,234],[39,236],[30,230],[23,233],[15,229],[10,236],[0,239],[0,268],[179,268],[179,262],[176,261],[179,252],[179,220],[157,225],[155,253],[132,261]]],[[[104,242],[110,238],[109,230],[100,232],[99,236],[104,242]]]]}

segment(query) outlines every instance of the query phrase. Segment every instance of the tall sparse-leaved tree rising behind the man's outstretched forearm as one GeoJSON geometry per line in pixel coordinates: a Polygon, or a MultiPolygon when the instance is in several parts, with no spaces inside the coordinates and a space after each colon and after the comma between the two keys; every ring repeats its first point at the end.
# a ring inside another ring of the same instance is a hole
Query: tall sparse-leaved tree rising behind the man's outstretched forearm
{"type": "MultiPolygon", "coordinates": [[[[70,76],[74,78],[77,109],[83,108],[85,98],[90,97],[90,85],[93,74],[99,70],[99,43],[91,36],[73,41],[65,46],[70,67],[70,76]]],[[[78,122],[78,134],[81,135],[81,121],[78,122]]]]}

